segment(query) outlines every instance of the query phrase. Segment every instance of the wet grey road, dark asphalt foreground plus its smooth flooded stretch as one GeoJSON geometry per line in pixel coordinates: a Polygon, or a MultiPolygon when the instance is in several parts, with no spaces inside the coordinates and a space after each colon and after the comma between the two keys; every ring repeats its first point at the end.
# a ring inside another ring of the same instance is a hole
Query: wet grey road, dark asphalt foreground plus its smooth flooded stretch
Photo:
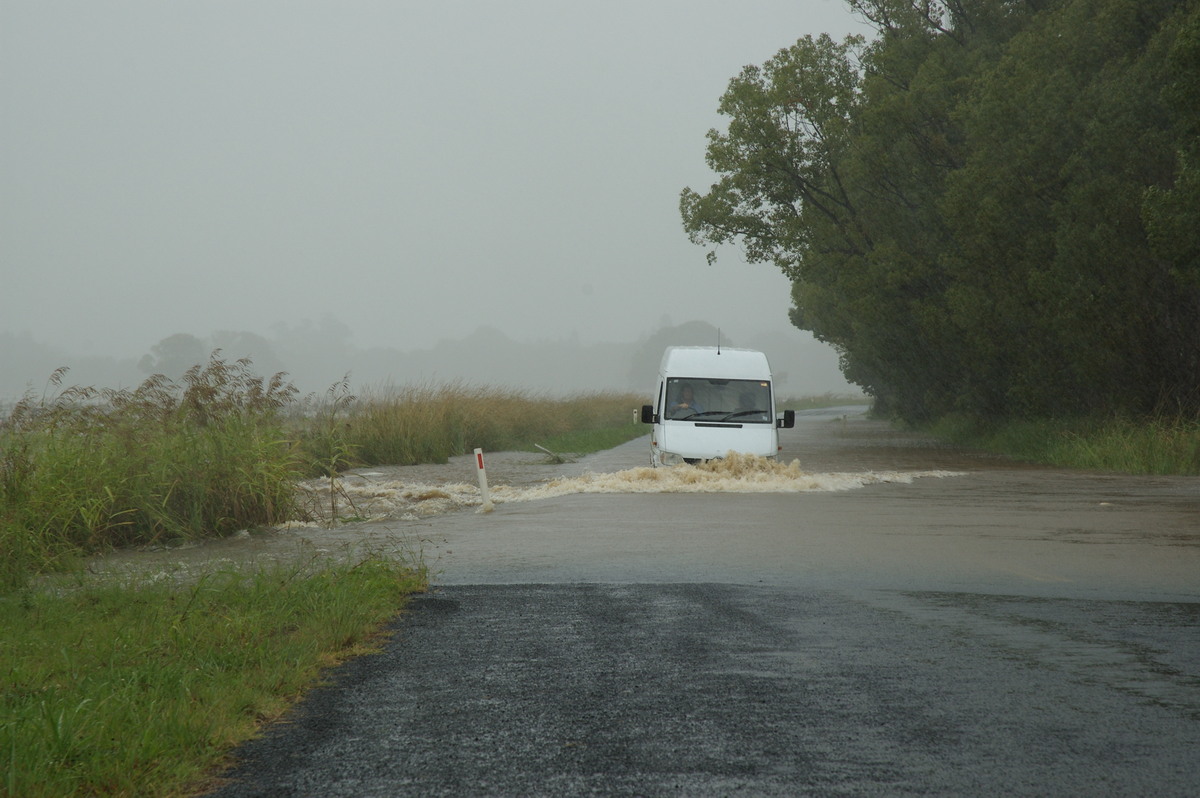
{"type": "Polygon", "coordinates": [[[966,475],[438,518],[385,650],[212,794],[1200,794],[1195,480],[816,421],[814,468],[966,475]]]}

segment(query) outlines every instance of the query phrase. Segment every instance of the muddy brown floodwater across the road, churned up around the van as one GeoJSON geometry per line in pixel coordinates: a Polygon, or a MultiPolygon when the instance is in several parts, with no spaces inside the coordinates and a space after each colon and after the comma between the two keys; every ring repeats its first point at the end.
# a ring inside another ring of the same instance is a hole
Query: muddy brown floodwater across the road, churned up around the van
{"type": "Polygon", "coordinates": [[[404,552],[436,583],[730,582],[1200,598],[1200,480],[1050,469],[862,408],[798,415],[776,461],[649,467],[648,439],[554,463],[485,452],[299,487],[312,521],[120,552],[96,570],[404,552]],[[330,516],[342,521],[330,528],[330,516]]]}

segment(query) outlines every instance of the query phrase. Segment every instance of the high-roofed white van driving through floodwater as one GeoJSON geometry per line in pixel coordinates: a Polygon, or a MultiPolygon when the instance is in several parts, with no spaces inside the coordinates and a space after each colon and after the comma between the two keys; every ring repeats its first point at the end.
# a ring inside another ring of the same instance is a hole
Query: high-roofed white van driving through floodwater
{"type": "Polygon", "coordinates": [[[730,451],[774,457],[779,428],[796,426],[796,413],[775,415],[775,390],[767,355],[754,349],[667,347],[659,366],[654,404],[642,406],[653,424],[654,466],[696,463],[730,451]]]}

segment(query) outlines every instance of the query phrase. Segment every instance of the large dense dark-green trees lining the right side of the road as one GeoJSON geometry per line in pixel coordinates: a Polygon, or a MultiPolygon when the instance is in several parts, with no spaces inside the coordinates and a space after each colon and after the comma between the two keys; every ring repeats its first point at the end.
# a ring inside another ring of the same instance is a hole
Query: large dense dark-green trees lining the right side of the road
{"type": "Polygon", "coordinates": [[[848,2],[731,80],[692,241],[900,416],[1200,412],[1200,2],[848,2]]]}

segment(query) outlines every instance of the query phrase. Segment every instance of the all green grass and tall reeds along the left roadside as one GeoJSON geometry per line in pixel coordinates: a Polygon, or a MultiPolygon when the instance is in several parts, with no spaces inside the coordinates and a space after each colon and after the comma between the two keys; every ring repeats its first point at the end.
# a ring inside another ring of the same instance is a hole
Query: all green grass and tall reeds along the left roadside
{"type": "Polygon", "coordinates": [[[100,577],[90,558],[301,517],[295,484],[474,446],[584,454],[644,434],[638,398],[346,382],[300,397],[214,353],[179,380],[64,388],[0,418],[0,796],[178,796],[323,668],[367,650],[420,562],[100,577]]]}

